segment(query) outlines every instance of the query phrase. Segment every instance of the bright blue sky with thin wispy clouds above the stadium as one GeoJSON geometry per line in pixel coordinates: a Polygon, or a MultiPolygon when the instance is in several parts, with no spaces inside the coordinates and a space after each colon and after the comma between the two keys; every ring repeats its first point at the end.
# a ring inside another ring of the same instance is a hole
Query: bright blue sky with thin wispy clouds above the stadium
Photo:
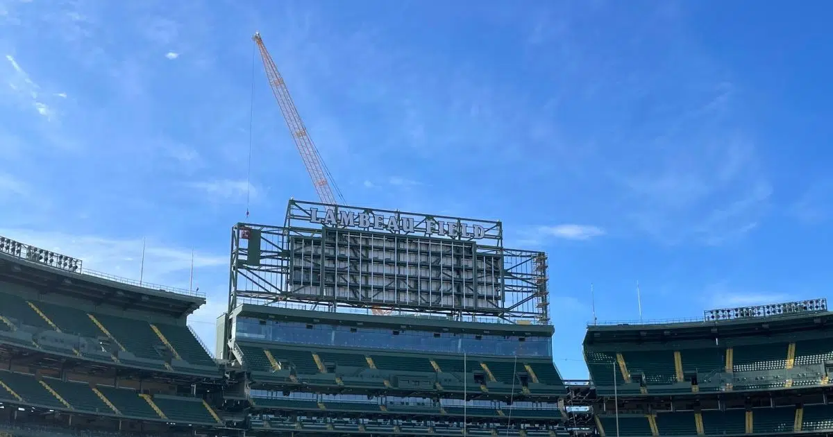
{"type": "Polygon", "coordinates": [[[186,286],[212,341],[229,230],[315,191],[260,31],[347,202],[504,222],[591,320],[826,296],[822,2],[0,1],[0,234],[186,286]],[[259,62],[259,61],[258,61],[259,62]],[[250,105],[253,117],[250,120],[250,105]],[[252,170],[247,171],[249,126],[252,170]]]}

